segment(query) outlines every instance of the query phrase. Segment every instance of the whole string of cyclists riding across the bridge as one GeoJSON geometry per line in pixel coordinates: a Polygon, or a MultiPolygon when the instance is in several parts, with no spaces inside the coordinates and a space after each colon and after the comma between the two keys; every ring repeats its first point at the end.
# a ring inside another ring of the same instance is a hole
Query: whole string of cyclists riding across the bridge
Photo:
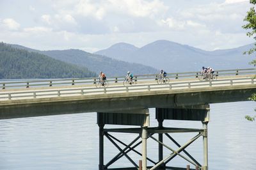
{"type": "MultiPolygon", "coordinates": [[[[211,67],[202,66],[202,72],[201,73],[202,73],[202,75],[204,75],[204,78],[206,77],[206,75],[209,75],[209,77],[212,77],[212,75],[214,73],[214,70],[211,67]]],[[[163,81],[164,81],[166,79],[166,75],[167,75],[167,73],[164,72],[164,70],[160,70],[160,73],[159,73],[158,77],[163,79],[163,81]]],[[[106,74],[103,73],[103,72],[100,72],[98,79],[100,80],[102,86],[104,86],[104,82],[107,79],[106,74]]],[[[132,84],[133,83],[133,74],[131,72],[127,72],[125,80],[129,84],[132,84]]]]}

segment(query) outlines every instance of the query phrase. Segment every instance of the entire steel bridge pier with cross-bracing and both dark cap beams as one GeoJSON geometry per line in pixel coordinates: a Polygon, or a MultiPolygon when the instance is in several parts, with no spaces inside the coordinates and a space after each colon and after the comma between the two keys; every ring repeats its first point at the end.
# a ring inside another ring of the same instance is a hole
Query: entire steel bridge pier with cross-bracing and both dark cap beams
{"type": "MultiPolygon", "coordinates": [[[[122,112],[97,112],[97,123],[99,125],[99,170],[103,169],[139,169],[139,160],[132,160],[127,153],[133,151],[141,156],[142,170],[154,169],[183,169],[181,167],[172,167],[167,164],[176,156],[184,158],[192,166],[198,166],[198,169],[208,169],[208,141],[207,141],[207,123],[209,122],[209,105],[195,105],[191,107],[180,108],[156,108],[156,119],[158,127],[149,127],[148,109],[127,110],[122,112]],[[164,120],[191,120],[202,121],[203,128],[170,128],[163,127],[164,120]],[[104,128],[104,125],[138,125],[139,128],[104,128]],[[198,133],[187,143],[180,145],[170,134],[173,133],[198,133]],[[138,134],[138,136],[129,144],[125,141],[117,139],[112,133],[130,133],[138,134]],[[157,134],[158,139],[153,135],[157,134]],[[164,136],[178,146],[177,150],[164,144],[164,136]],[[204,163],[201,165],[193,158],[186,148],[192,144],[200,136],[203,137],[204,146],[204,163]],[[119,153],[109,162],[104,164],[104,137],[108,139],[119,150],[119,153]],[[158,159],[147,157],[147,139],[151,138],[158,143],[158,159]],[[118,145],[119,144],[119,145],[118,145]],[[136,150],[141,144],[141,151],[136,150]],[[120,146],[122,145],[122,146],[120,146]],[[122,148],[123,147],[123,148],[122,148]],[[163,155],[163,148],[170,150],[170,154],[163,155]],[[182,154],[181,154],[182,153],[182,154]],[[186,156],[186,157],[185,157],[186,156]],[[111,165],[118,161],[119,158],[126,157],[133,167],[111,168],[111,165]],[[148,166],[147,162],[151,162],[153,166],[148,166]]],[[[184,165],[184,169],[186,165],[184,165]]]]}

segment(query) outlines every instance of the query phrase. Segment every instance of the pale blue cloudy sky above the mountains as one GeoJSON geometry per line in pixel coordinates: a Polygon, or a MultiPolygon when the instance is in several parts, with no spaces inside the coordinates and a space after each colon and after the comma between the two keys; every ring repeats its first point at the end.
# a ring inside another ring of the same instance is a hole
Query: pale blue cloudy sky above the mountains
{"type": "Polygon", "coordinates": [[[241,26],[248,0],[0,0],[0,42],[96,52],[156,40],[204,50],[253,43],[241,26]]]}

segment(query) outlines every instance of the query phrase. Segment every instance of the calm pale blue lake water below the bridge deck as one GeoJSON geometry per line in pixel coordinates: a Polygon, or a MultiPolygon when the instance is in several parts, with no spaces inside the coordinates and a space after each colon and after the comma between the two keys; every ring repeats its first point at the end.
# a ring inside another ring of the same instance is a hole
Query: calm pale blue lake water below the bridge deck
{"type": "MultiPolygon", "coordinates": [[[[256,122],[244,119],[246,114],[256,114],[254,107],[255,102],[211,105],[209,169],[256,169],[256,122]]],[[[150,126],[156,126],[154,109],[150,109],[150,118],[150,126]]],[[[164,126],[201,128],[202,123],[165,120],[164,126]]],[[[125,143],[136,137],[130,134],[113,135],[125,143]]],[[[172,137],[184,144],[194,135],[173,134],[172,137]]],[[[98,139],[95,112],[0,120],[0,169],[98,169],[98,139]]],[[[177,148],[166,138],[164,143],[177,148]]],[[[104,146],[106,163],[118,150],[106,138],[104,146]]],[[[137,149],[140,151],[140,148],[137,149]]],[[[202,162],[202,137],[186,150],[202,162]]],[[[164,156],[168,153],[164,150],[164,156]]],[[[136,162],[140,159],[138,155],[129,155],[136,162]]],[[[157,143],[152,139],[148,140],[148,156],[153,160],[158,157],[157,143]]],[[[182,158],[175,157],[170,166],[186,167],[187,164],[182,158]]],[[[120,166],[129,167],[132,164],[124,157],[112,167],[120,166]]]]}

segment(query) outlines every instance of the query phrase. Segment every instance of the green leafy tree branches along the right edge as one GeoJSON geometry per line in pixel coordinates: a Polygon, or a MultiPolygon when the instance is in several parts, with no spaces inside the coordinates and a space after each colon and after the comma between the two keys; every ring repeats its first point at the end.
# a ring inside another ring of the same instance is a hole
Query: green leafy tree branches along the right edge
{"type": "MultiPolygon", "coordinates": [[[[256,4],[256,0],[250,0],[251,4],[256,4]]],[[[255,12],[255,8],[254,6],[252,8],[250,8],[250,11],[247,12],[246,17],[244,18],[244,21],[248,22],[247,24],[245,24],[243,26],[244,29],[248,29],[249,31],[246,33],[247,36],[249,37],[253,37],[254,40],[256,40],[256,12],[255,12]]],[[[253,52],[256,51],[256,43],[254,44],[255,47],[253,47],[252,49],[244,52],[244,54],[248,53],[248,54],[252,54],[253,52]]],[[[252,62],[250,62],[251,65],[256,65],[256,60],[254,59],[252,62]]],[[[254,93],[252,95],[252,97],[249,98],[249,100],[252,101],[256,101],[256,94],[254,93]]],[[[245,116],[245,118],[249,121],[255,121],[256,116],[245,116]]]]}

